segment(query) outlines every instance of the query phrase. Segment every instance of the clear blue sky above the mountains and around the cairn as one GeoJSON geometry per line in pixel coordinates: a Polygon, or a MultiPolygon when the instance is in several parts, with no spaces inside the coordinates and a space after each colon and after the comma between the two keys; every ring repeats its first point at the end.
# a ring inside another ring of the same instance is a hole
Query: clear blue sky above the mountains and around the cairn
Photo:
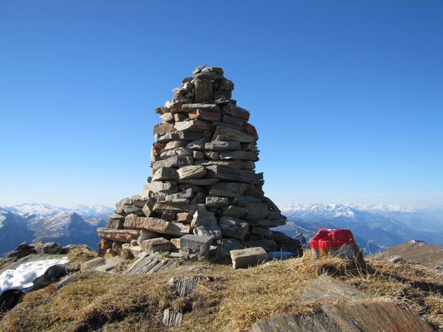
{"type": "Polygon", "coordinates": [[[442,1],[0,0],[0,204],[114,204],[224,68],[276,203],[443,202],[442,1]]]}

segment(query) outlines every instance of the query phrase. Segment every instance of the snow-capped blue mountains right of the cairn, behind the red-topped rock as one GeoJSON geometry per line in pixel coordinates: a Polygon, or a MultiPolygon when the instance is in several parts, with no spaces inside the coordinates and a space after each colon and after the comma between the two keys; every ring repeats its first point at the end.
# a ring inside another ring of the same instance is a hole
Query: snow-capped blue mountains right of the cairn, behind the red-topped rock
{"type": "Polygon", "coordinates": [[[280,209],[289,221],[279,229],[289,235],[302,232],[309,238],[318,228],[349,228],[359,245],[371,252],[413,239],[443,245],[443,206],[317,203],[280,209]]]}

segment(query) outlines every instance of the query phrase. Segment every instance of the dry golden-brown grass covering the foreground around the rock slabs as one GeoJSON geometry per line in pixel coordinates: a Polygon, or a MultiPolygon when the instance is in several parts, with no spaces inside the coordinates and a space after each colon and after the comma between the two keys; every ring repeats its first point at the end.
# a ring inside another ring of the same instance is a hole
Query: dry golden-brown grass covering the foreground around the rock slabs
{"type": "Polygon", "coordinates": [[[305,257],[272,261],[247,270],[199,263],[193,270],[123,276],[91,273],[60,291],[30,293],[10,311],[3,331],[165,331],[163,310],[184,313],[172,331],[249,331],[274,315],[305,314],[320,303],[304,303],[303,288],[321,273],[329,273],[366,293],[392,299],[419,311],[443,328],[443,279],[431,270],[409,264],[370,261],[355,270],[341,259],[305,257]],[[210,269],[210,270],[209,270],[210,269]],[[178,298],[168,285],[172,276],[200,275],[197,291],[178,298]]]}

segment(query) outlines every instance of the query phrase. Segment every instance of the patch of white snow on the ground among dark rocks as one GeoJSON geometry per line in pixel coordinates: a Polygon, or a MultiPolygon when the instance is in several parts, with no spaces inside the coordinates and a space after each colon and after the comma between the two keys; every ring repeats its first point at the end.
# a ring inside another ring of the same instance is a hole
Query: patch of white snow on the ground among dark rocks
{"type": "Polygon", "coordinates": [[[45,259],[30,261],[19,265],[15,270],[6,270],[0,275],[0,295],[8,289],[26,289],[33,286],[33,280],[44,275],[46,270],[54,265],[68,262],[67,257],[61,259],[45,259]]]}

